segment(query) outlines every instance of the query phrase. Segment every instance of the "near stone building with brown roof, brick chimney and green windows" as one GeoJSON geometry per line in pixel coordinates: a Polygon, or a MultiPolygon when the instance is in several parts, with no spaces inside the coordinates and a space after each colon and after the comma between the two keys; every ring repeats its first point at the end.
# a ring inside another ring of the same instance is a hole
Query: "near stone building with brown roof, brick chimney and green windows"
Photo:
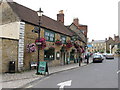
{"type": "MultiPolygon", "coordinates": [[[[30,69],[30,62],[37,61],[37,12],[15,2],[3,2],[0,8],[2,72],[8,72],[10,61],[15,61],[16,71],[30,69]]],[[[63,11],[57,14],[57,20],[42,15],[40,38],[43,44],[40,48],[40,61],[47,61],[48,66],[72,63],[74,56],[70,56],[76,50],[71,42],[73,35],[70,28],[64,26],[63,11]]]]}

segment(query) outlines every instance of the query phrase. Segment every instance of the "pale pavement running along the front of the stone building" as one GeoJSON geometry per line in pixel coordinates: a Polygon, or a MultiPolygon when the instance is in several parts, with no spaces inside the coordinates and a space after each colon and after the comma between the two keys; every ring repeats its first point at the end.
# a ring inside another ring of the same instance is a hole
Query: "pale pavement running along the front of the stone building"
{"type": "MultiPolygon", "coordinates": [[[[90,59],[90,63],[92,63],[91,59],[90,59]]],[[[86,62],[81,63],[81,67],[85,65],[87,65],[86,62]]],[[[78,67],[79,67],[78,63],[73,63],[63,66],[48,67],[48,70],[49,70],[49,75],[51,75],[57,72],[74,69],[78,67]]],[[[2,74],[1,76],[2,76],[2,81],[0,82],[0,86],[2,86],[2,88],[23,88],[25,85],[45,77],[44,75],[36,75],[36,70],[30,70],[30,71],[25,71],[21,73],[12,73],[12,74],[5,73],[2,74]]]]}

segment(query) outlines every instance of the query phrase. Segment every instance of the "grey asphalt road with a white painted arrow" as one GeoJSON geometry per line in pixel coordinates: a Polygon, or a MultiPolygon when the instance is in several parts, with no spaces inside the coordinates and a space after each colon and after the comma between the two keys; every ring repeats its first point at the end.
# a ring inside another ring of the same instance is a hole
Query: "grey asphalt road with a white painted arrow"
{"type": "Polygon", "coordinates": [[[118,88],[118,58],[55,73],[27,88],[118,88]],[[67,82],[66,82],[67,81],[67,82]]]}

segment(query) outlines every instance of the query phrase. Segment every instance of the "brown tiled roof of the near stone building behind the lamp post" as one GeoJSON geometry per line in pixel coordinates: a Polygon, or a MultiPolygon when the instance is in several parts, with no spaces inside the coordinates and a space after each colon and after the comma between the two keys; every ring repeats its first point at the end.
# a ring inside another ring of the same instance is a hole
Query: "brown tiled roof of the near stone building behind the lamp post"
{"type": "MultiPolygon", "coordinates": [[[[29,9],[23,5],[20,5],[16,2],[8,2],[8,4],[11,6],[13,11],[18,15],[20,20],[23,20],[25,22],[34,24],[34,25],[39,25],[38,20],[39,17],[37,15],[37,12],[29,9]]],[[[45,27],[47,29],[53,30],[55,32],[59,32],[68,36],[72,36],[73,33],[67,29],[64,24],[53,20],[45,15],[41,17],[41,26],[45,27]]]]}

